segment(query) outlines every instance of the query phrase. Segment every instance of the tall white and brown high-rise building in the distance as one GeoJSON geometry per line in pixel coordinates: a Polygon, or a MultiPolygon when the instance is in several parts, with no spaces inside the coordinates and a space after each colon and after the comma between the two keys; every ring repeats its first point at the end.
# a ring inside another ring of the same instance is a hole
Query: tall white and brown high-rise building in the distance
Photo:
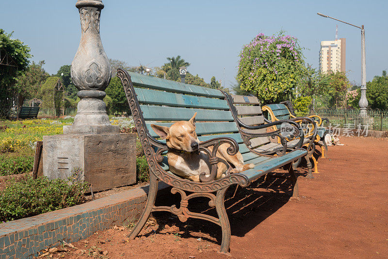
{"type": "Polygon", "coordinates": [[[321,72],[345,72],[346,39],[321,41],[319,69],[321,72]]]}

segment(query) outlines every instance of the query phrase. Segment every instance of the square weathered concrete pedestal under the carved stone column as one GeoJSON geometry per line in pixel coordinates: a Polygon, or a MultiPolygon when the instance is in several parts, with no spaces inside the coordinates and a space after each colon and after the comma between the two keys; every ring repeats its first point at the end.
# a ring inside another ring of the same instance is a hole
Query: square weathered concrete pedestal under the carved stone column
{"type": "Polygon", "coordinates": [[[64,134],[43,137],[43,175],[68,178],[84,171],[93,191],[136,183],[136,134],[64,134]]]}

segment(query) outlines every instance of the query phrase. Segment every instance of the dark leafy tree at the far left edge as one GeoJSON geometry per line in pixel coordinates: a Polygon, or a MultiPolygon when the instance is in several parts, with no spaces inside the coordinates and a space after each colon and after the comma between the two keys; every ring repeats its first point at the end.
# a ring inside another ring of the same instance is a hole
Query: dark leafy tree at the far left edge
{"type": "Polygon", "coordinates": [[[12,33],[0,29],[0,58],[8,55],[12,64],[16,66],[0,64],[0,118],[10,116],[13,99],[18,95],[16,78],[27,70],[29,58],[32,57],[28,45],[21,40],[12,39],[12,33]]]}

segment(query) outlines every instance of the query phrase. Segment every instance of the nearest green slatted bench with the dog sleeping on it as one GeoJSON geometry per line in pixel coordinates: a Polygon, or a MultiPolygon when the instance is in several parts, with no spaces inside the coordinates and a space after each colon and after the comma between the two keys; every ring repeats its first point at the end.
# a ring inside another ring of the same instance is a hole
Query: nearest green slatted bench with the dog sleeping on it
{"type": "MultiPolygon", "coordinates": [[[[229,186],[248,186],[256,179],[265,176],[277,168],[285,167],[289,170],[293,185],[292,196],[297,198],[297,177],[292,168],[292,162],[306,156],[307,151],[296,149],[279,156],[260,156],[247,148],[234,121],[224,94],[216,89],[210,89],[176,81],[168,81],[137,73],[117,70],[121,79],[129,108],[136,125],[140,142],[143,146],[146,160],[150,168],[149,192],[146,207],[136,226],[129,234],[134,239],[146,224],[152,211],[170,211],[185,222],[188,218],[208,220],[222,228],[222,242],[220,253],[228,254],[230,244],[230,225],[226,214],[224,199],[229,186]],[[196,133],[201,143],[199,150],[210,157],[210,176],[200,177],[201,182],[183,179],[169,171],[167,158],[164,154],[168,151],[165,142],[156,138],[157,134],[151,129],[150,124],[169,126],[174,121],[188,120],[197,113],[196,133]],[[224,178],[215,180],[218,159],[215,156],[218,146],[228,143],[230,155],[237,151],[242,153],[244,162],[255,164],[255,168],[239,174],[229,174],[224,178]],[[213,146],[210,153],[207,147],[213,146]],[[181,195],[180,206],[155,206],[158,190],[158,181],[163,181],[172,186],[173,194],[181,195]],[[218,217],[203,213],[195,213],[188,209],[188,202],[194,197],[207,197],[209,206],[215,207],[218,217]]],[[[278,122],[273,123],[278,124],[278,122]]],[[[298,127],[296,123],[291,123],[298,127]]],[[[272,126],[272,124],[269,124],[272,126]]],[[[268,127],[270,127],[268,126],[268,127]]],[[[253,136],[271,136],[278,132],[271,132],[253,136]]],[[[276,135],[276,136],[277,136],[276,135]]],[[[283,138],[283,137],[282,137],[283,138]]],[[[287,141],[282,142],[283,149],[287,149],[287,141]]]]}

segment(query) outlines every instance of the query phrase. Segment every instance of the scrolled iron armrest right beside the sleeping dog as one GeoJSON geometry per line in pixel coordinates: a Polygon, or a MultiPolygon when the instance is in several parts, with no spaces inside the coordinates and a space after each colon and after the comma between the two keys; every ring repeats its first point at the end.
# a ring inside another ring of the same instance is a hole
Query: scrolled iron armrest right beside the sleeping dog
{"type": "Polygon", "coordinates": [[[229,165],[225,160],[216,156],[217,150],[222,144],[229,144],[229,147],[226,149],[226,152],[231,156],[235,155],[239,151],[239,145],[237,144],[237,142],[234,139],[228,137],[213,138],[208,141],[199,143],[198,151],[203,151],[209,157],[209,162],[211,165],[210,175],[206,175],[205,173],[201,173],[199,175],[199,179],[201,182],[210,182],[215,179],[218,170],[217,163],[223,162],[225,163],[226,167],[229,168],[229,165]],[[213,146],[211,152],[208,149],[208,147],[210,146],[213,146]]]}

